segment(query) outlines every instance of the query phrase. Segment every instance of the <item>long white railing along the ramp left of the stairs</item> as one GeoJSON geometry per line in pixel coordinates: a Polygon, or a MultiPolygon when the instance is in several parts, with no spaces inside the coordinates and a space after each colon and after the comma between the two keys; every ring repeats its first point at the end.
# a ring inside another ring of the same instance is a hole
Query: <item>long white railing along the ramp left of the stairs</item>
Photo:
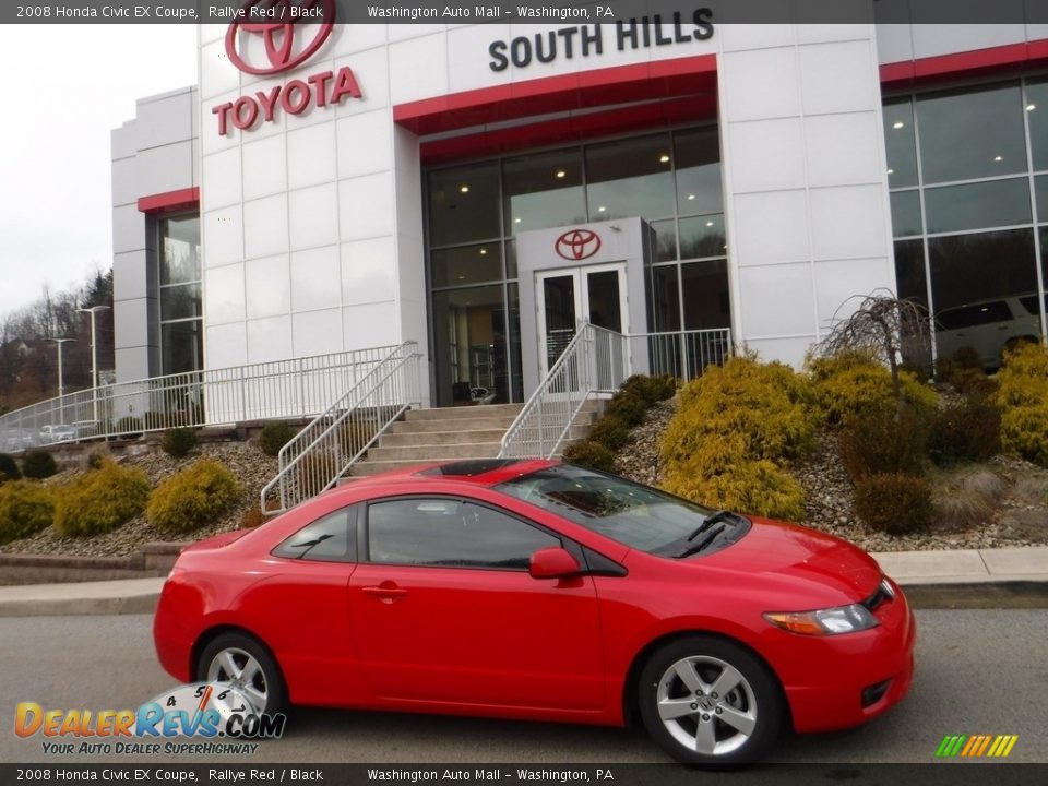
{"type": "Polygon", "coordinates": [[[326,409],[392,346],[118,382],[0,416],[0,452],[177,426],[309,417],[326,409]]]}

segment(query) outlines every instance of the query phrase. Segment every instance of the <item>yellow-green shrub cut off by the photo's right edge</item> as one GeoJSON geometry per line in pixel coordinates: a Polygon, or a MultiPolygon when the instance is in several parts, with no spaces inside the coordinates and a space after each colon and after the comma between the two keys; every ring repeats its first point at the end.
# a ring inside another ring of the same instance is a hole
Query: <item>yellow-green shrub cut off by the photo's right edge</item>
{"type": "Polygon", "coordinates": [[[1007,352],[997,379],[1001,446],[1048,466],[1048,349],[1040,344],[1021,344],[1007,352]]]}

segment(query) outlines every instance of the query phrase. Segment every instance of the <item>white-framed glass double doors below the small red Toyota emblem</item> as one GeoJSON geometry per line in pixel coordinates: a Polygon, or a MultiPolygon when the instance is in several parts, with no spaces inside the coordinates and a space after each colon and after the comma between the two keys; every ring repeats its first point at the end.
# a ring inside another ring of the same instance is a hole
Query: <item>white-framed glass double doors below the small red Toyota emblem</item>
{"type": "Polygon", "coordinates": [[[626,264],[537,272],[535,303],[545,377],[586,322],[616,333],[626,331],[626,264]]]}

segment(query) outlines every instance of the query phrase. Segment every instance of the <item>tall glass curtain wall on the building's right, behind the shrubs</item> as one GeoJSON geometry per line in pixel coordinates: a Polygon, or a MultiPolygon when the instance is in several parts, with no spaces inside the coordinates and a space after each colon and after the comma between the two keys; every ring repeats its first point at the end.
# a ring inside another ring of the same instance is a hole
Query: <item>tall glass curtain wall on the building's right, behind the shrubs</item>
{"type": "Polygon", "coordinates": [[[1044,332],[1048,78],[889,98],[884,136],[898,295],[992,370],[1044,332]]]}

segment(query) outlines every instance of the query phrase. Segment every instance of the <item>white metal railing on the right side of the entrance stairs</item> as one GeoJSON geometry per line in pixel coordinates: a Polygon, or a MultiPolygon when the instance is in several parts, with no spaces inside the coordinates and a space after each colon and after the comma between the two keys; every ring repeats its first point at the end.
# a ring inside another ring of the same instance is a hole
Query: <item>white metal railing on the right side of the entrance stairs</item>
{"type": "Polygon", "coordinates": [[[629,349],[634,342],[646,342],[647,373],[682,380],[701,377],[706,367],[723,365],[733,353],[727,327],[622,335],[586,324],[505,432],[499,457],[556,455],[586,401],[595,394],[614,393],[630,373],[629,349]]]}

